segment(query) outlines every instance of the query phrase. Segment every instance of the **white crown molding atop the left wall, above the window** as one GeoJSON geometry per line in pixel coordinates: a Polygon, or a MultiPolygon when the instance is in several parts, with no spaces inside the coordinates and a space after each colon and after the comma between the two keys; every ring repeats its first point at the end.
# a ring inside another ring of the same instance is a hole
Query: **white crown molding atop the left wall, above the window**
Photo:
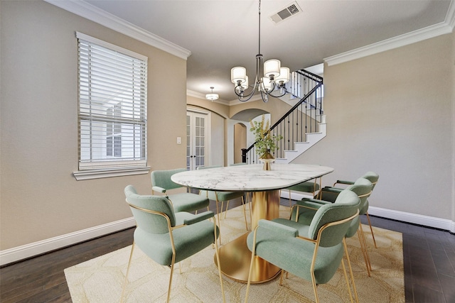
{"type": "Polygon", "coordinates": [[[135,26],[132,23],[124,21],[122,18],[107,13],[102,9],[98,9],[92,4],[88,4],[85,1],[71,1],[71,0],[44,0],[49,4],[60,7],[70,13],[75,13],[77,16],[86,18],[90,21],[96,22],[102,26],[117,31],[131,38],[139,40],[143,43],[164,50],[166,53],[180,57],[183,60],[187,60],[191,55],[191,51],[182,48],[175,43],[172,43],[166,39],[159,37],[149,31],[144,31],[143,28],[135,26]]]}

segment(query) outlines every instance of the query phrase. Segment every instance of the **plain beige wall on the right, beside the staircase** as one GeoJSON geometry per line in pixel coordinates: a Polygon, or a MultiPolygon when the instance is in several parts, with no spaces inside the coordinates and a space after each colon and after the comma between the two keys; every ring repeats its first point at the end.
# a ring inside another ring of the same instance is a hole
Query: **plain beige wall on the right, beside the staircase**
{"type": "Polygon", "coordinates": [[[454,34],[325,66],[327,136],[294,162],[380,180],[370,205],[455,221],[454,34]]]}

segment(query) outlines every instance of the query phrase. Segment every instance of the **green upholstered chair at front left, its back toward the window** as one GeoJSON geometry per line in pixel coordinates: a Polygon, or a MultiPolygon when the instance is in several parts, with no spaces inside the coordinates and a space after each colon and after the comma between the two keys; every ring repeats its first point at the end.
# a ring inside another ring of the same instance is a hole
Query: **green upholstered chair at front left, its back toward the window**
{"type": "Polygon", "coordinates": [[[213,212],[205,211],[197,215],[188,212],[176,213],[166,197],[139,195],[132,185],[125,187],[124,193],[136,219],[137,228],[134,231],[122,299],[135,246],[138,246],[156,263],[171,269],[167,295],[167,302],[169,302],[174,264],[215,243],[215,255],[224,302],[223,278],[220,271],[218,241],[216,241],[220,233],[215,220],[213,222],[208,220],[213,218],[213,212]]]}

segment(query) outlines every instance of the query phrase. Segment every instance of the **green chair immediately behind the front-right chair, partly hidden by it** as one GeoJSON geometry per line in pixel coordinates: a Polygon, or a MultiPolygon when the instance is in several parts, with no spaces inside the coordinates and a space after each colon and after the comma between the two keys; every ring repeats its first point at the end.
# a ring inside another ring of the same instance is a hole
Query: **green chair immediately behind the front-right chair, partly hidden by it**
{"type": "MultiPolygon", "coordinates": [[[[362,209],[365,208],[365,204],[368,202],[368,197],[370,197],[371,190],[372,190],[373,184],[371,184],[370,181],[368,181],[365,178],[359,178],[354,182],[354,184],[349,185],[346,187],[344,190],[350,190],[351,192],[354,192],[355,194],[358,195],[360,199],[359,203],[359,214],[361,213],[362,209]]],[[[311,224],[311,220],[314,217],[314,214],[316,213],[317,209],[324,204],[331,204],[333,202],[339,203],[340,200],[338,197],[340,196],[342,190],[340,189],[327,189],[323,188],[321,191],[321,196],[322,197],[330,197],[333,198],[335,197],[334,195],[336,194],[336,198],[334,200],[322,200],[322,199],[302,199],[301,202],[297,202],[297,205],[294,206],[292,213],[291,213],[291,221],[298,221],[300,224],[304,224],[304,226],[309,226],[311,224]],[[325,190],[325,191],[324,191],[325,190]],[[304,207],[300,207],[304,206],[304,207]]],[[[286,224],[287,220],[285,219],[277,219],[279,223],[286,224]]],[[[346,238],[351,238],[355,236],[355,233],[358,235],[358,240],[360,243],[360,248],[362,249],[363,253],[363,258],[365,260],[365,266],[367,268],[367,273],[368,276],[370,276],[370,270],[371,270],[371,262],[370,262],[370,256],[368,255],[368,249],[367,245],[365,242],[365,234],[363,233],[363,228],[362,224],[360,224],[360,217],[356,217],[353,219],[350,228],[346,232],[346,238]]]]}

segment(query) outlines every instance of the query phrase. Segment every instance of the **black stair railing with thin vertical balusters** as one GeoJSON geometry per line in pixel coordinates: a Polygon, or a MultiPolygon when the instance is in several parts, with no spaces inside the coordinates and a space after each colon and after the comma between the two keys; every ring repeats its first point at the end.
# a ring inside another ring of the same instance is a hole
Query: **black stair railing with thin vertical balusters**
{"type": "MultiPolygon", "coordinates": [[[[323,116],[323,78],[306,70],[291,73],[287,83],[287,92],[291,99],[300,99],[270,128],[272,135],[282,136],[276,150],[270,150],[275,158],[283,158],[284,150],[294,150],[294,143],[305,142],[306,133],[318,132],[323,116]]],[[[242,148],[242,162],[259,163],[259,155],[253,143],[249,148],[242,148]]]]}

